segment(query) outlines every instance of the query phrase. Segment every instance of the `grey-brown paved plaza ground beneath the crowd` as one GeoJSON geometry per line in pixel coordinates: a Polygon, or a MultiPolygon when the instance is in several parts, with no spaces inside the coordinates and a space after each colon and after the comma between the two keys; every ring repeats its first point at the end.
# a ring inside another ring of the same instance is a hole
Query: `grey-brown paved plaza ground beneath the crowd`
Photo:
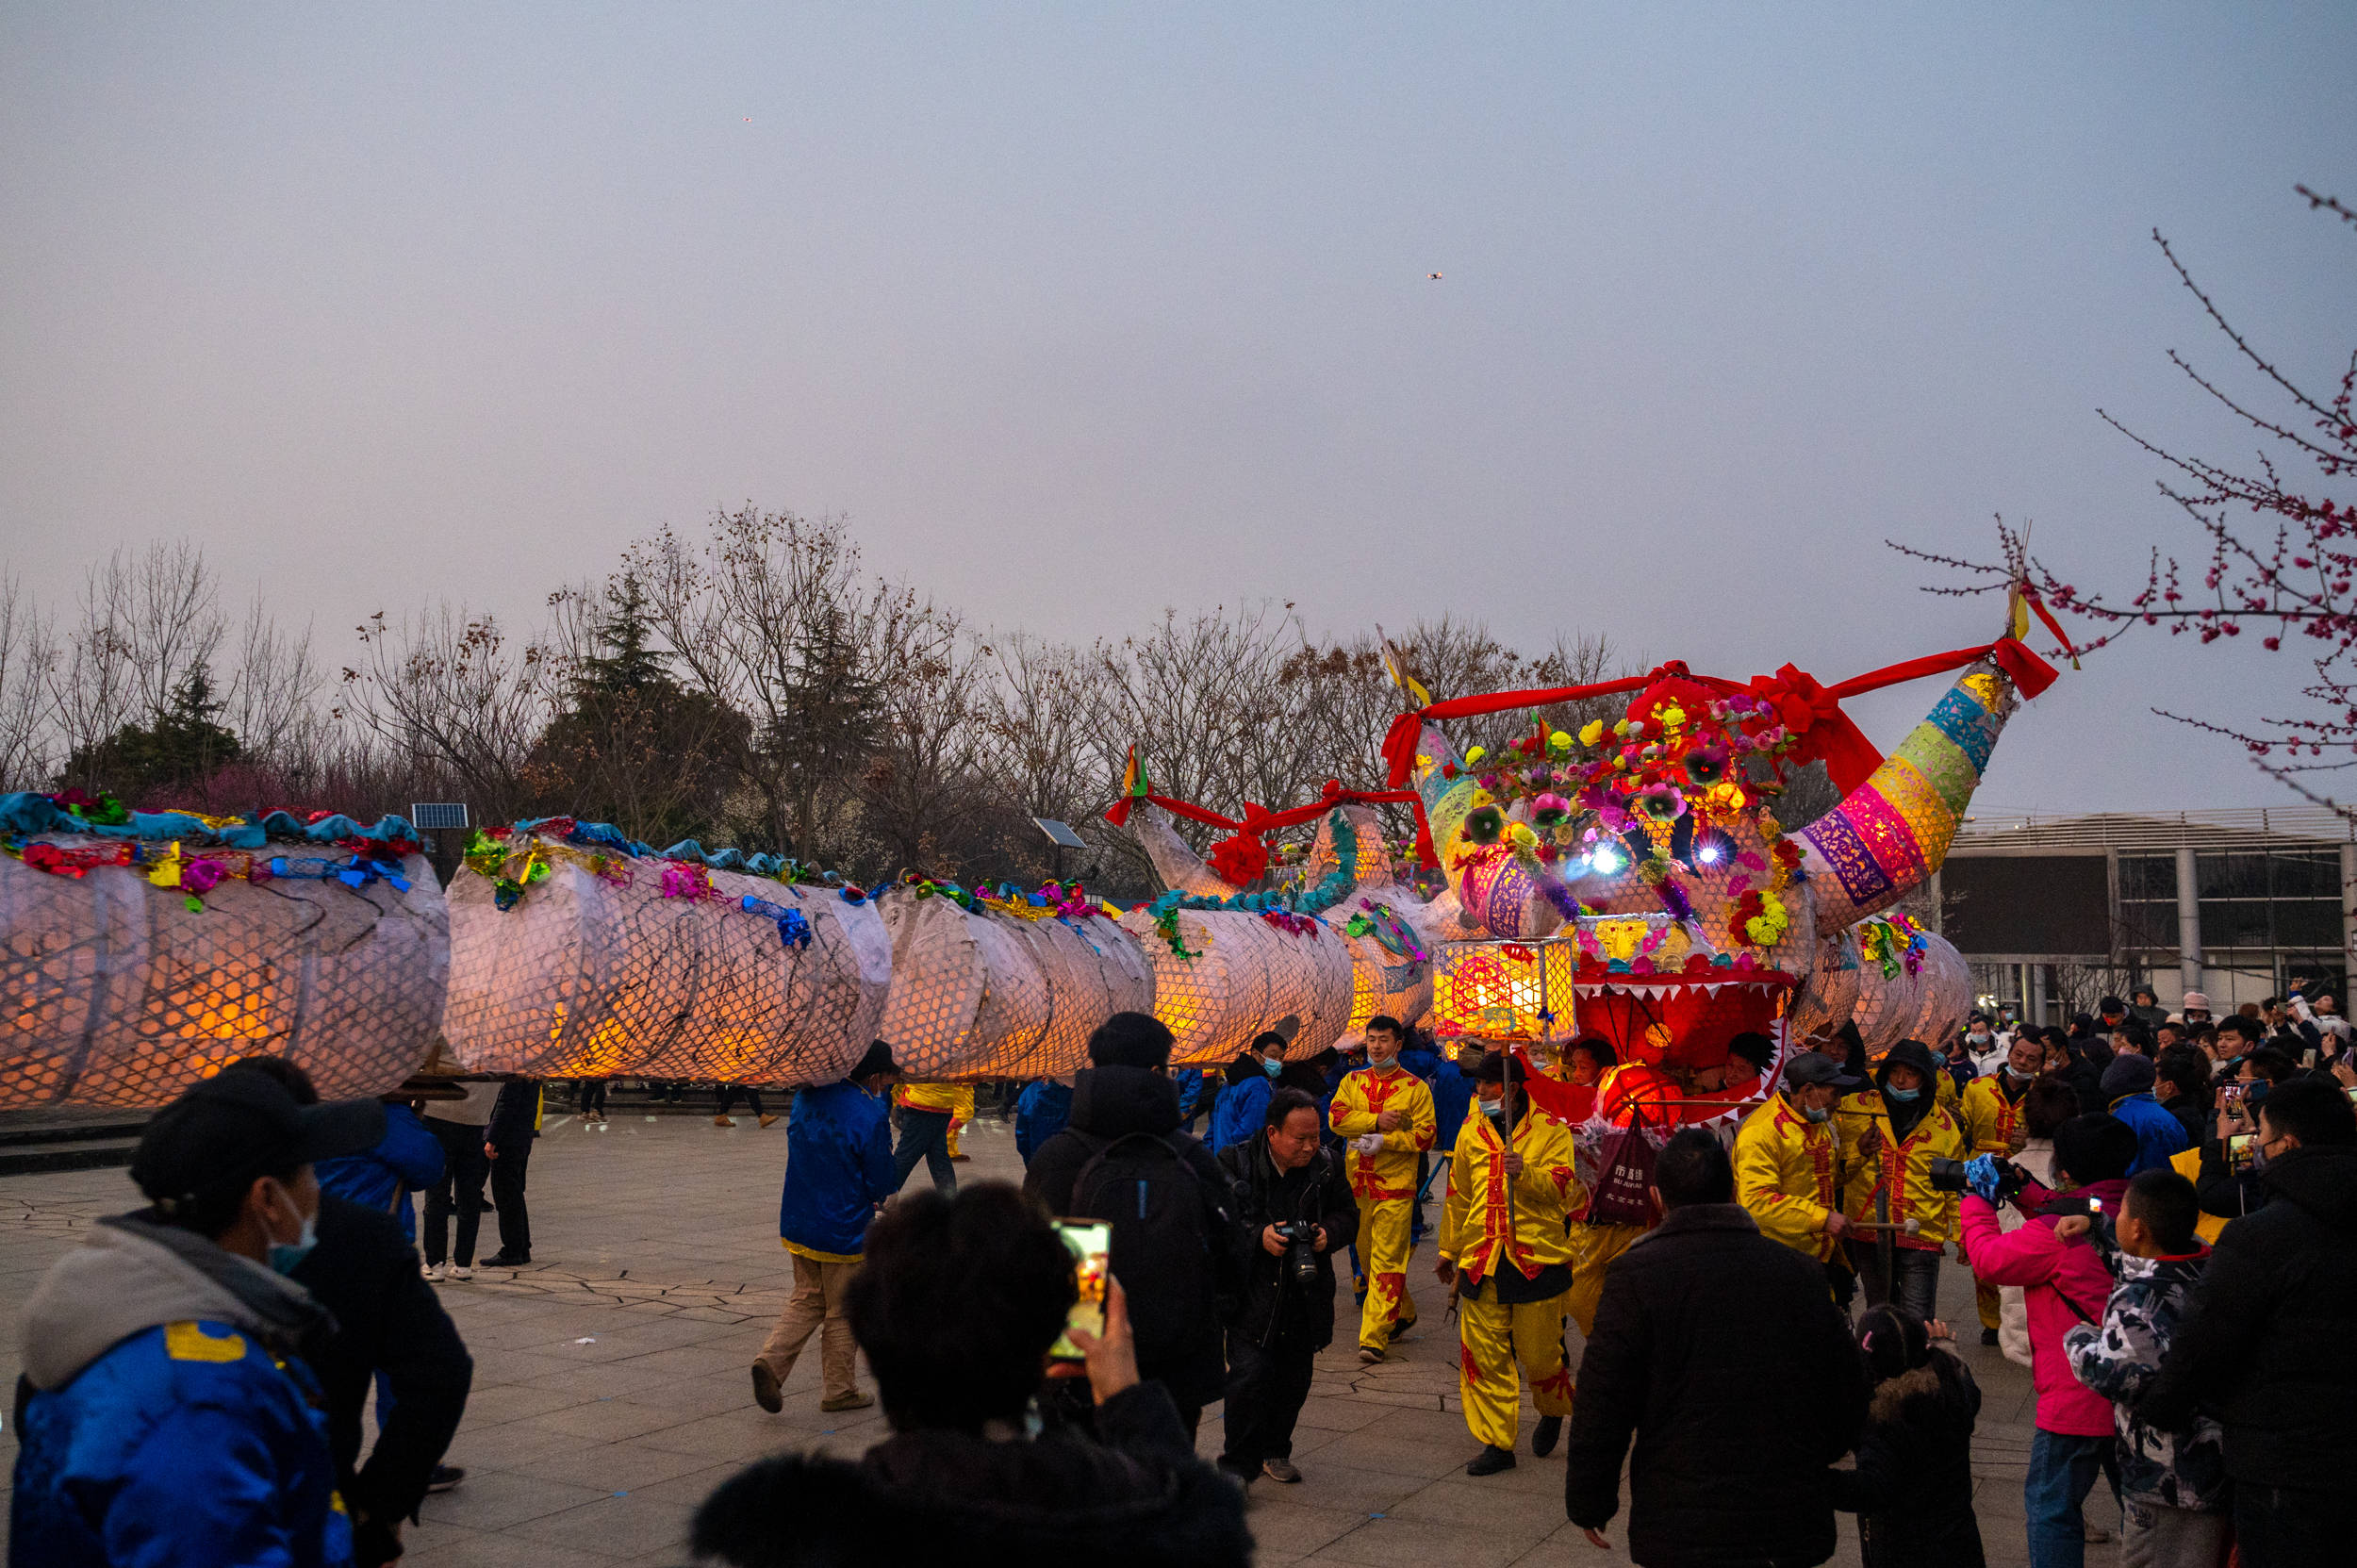
{"type": "MultiPolygon", "coordinates": [[[[1014,1137],[995,1120],[966,1134],[964,1179],[1021,1179],[1014,1137]]],[[[858,1455],[884,1436],[879,1410],[820,1415],[813,1339],[787,1382],[785,1412],[754,1408],[747,1365],[778,1316],[790,1264],[778,1245],[785,1125],[750,1115],[615,1115],[608,1129],[549,1118],[533,1153],[535,1266],[441,1285],[474,1351],[474,1396],[450,1460],[455,1493],[429,1497],[408,1530],[415,1568],[589,1568],[684,1563],[695,1504],[740,1464],[780,1448],[858,1455]]],[[[919,1167],[915,1181],[924,1181],[919,1167]]],[[[99,1214],[134,1207],[123,1170],[0,1179],[0,1309],[9,1332],[0,1370],[14,1384],[16,1316],[40,1273],[99,1214]]],[[[1438,1217],[1438,1203],[1431,1210],[1438,1217]]],[[[495,1250],[493,1217],[483,1245],[495,1250]]],[[[1424,1332],[1402,1356],[1362,1370],[1343,1332],[1320,1358],[1294,1460],[1301,1485],[1254,1485],[1261,1563],[1622,1563],[1563,1518],[1563,1457],[1485,1481],[1464,1462],[1478,1445],[1457,1408],[1454,1327],[1431,1245],[1409,1273],[1424,1332]]],[[[1966,1335],[1985,1405],[1975,1448],[1980,1530],[1992,1566],[2025,1561],[2022,1464],[2029,1455],[2029,1372],[1973,1332],[1970,1278],[1949,1264],[1942,1306],[1966,1335]]],[[[1343,1304],[1348,1309],[1348,1304],[1343,1304]]],[[[1728,1302],[1730,1332],[1742,1304],[1728,1302]]],[[[1343,1313],[1348,1318],[1348,1311],[1343,1313]]],[[[1572,1361],[1577,1365],[1577,1330],[1572,1361]]],[[[867,1384],[865,1368],[860,1372],[867,1384]]],[[[1532,1424],[1525,1396],[1525,1429],[1532,1424]]],[[[1219,1452],[1219,1408],[1202,1450],[1219,1452]]],[[[14,1434],[0,1460],[14,1464],[14,1434]]],[[[2098,1488],[2095,1518],[2117,1530],[2098,1488]]],[[[1624,1544],[1626,1509],[1612,1526],[1624,1544]]],[[[792,1530],[792,1518],[778,1521],[792,1530]]],[[[1855,1521],[1841,1521],[1838,1563],[1857,1561],[1855,1521]]],[[[2095,1549],[2110,1561],[2117,1549],[2095,1549]]]]}

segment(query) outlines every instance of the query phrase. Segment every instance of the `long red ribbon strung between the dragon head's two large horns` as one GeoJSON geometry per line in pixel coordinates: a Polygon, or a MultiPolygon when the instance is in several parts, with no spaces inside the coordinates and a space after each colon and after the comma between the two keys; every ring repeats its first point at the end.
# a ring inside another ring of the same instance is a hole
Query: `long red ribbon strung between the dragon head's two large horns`
{"type": "MultiPolygon", "coordinates": [[[[2036,606],[2036,601],[2032,601],[2036,606]]],[[[2036,606],[2044,618],[2044,606],[2036,606]]],[[[2051,625],[2051,620],[2048,620],[2051,625]]],[[[2060,632],[2058,632],[2060,637],[2060,632]]],[[[2065,639],[2065,648],[2069,641],[2065,639]]],[[[1926,674],[1945,674],[1949,670],[1963,670],[1966,665],[1994,658],[1996,667],[2006,672],[2013,686],[2025,696],[2034,698],[2055,681],[2055,670],[2044,658],[2039,658],[2029,644],[2018,637],[1999,637],[1996,641],[1980,644],[1978,648],[1954,648],[1949,653],[1928,653],[1923,658],[1912,658],[1902,665],[1886,665],[1881,670],[1869,670],[1867,674],[1850,677],[1838,686],[1824,686],[1813,674],[1784,665],[1775,674],[1754,674],[1749,686],[1737,686],[1711,674],[1695,674],[1681,660],[1669,660],[1657,665],[1648,674],[1636,674],[1619,681],[1596,681],[1589,686],[1556,686],[1553,691],[1494,691],[1475,698],[1450,698],[1447,703],[1433,703],[1431,707],[1419,707],[1402,712],[1391,722],[1391,731],[1384,736],[1384,759],[1391,764],[1391,785],[1400,788],[1407,783],[1417,766],[1417,740],[1424,726],[1435,719],[1468,719],[1485,712],[1506,712],[1508,707],[1544,707],[1549,703],[1577,703],[1582,698],[1603,698],[1622,691],[1643,691],[1657,681],[1685,681],[1714,691],[1721,696],[1749,693],[1768,703],[1784,729],[1794,733],[1798,747],[1791,752],[1791,764],[1824,762],[1827,773],[1834,776],[1834,788],[1843,795],[1867,783],[1867,778],[1883,764],[1883,755],[1874,750],[1864,731],[1841,712],[1843,698],[1855,698],[1867,691],[1881,691],[1883,686],[1897,686],[1900,681],[1914,681],[1926,674]]]]}

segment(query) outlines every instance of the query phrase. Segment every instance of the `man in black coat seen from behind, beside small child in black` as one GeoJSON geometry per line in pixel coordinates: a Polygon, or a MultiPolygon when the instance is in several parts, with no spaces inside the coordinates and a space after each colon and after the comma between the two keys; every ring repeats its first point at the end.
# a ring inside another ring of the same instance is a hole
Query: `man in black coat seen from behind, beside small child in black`
{"type": "Polygon", "coordinates": [[[1662,1148],[1655,1198],[1666,1214],[1612,1259],[1579,1361],[1565,1511],[1605,1544],[1636,1434],[1633,1561],[1822,1563],[1834,1556],[1824,1471],[1867,1410],[1850,1325],[1822,1269],[1735,1203],[1735,1165],[1709,1132],[1662,1148]]]}

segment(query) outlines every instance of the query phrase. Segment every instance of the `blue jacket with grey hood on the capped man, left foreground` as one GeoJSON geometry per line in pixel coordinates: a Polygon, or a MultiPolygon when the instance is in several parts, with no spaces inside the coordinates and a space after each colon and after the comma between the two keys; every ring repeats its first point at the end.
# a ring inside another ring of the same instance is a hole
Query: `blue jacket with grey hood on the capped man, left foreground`
{"type": "Polygon", "coordinates": [[[351,1563],[318,1384],[278,1332],[318,1316],[212,1243],[101,1221],[26,1309],[9,1561],[351,1563]]]}

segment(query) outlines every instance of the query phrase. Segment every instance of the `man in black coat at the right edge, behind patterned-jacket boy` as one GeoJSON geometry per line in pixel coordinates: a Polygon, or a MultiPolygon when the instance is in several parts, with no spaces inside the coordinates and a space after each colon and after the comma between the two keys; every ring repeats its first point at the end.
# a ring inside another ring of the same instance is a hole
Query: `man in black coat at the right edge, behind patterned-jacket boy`
{"type": "Polygon", "coordinates": [[[2140,1422],[2225,1424],[2234,1544],[2249,1568],[2345,1561],[2357,1535],[2357,1113],[2336,1085],[2291,1078],[2258,1108],[2265,1205],[2211,1252],[2140,1422]]]}

